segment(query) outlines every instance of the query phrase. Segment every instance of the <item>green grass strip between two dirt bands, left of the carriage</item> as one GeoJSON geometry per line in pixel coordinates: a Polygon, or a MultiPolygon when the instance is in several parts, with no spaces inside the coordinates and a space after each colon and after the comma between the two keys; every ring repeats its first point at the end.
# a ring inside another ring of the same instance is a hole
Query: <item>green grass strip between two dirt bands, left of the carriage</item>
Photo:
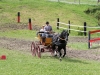
{"type": "Polygon", "coordinates": [[[0,36],[8,38],[34,40],[37,36],[36,33],[37,32],[33,30],[8,30],[6,32],[0,32],[0,36]]]}

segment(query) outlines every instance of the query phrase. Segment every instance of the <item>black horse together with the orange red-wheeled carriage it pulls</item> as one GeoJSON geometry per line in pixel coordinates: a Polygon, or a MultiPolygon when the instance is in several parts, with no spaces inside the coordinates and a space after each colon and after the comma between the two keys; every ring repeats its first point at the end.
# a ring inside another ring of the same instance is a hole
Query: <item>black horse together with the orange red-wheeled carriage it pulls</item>
{"type": "Polygon", "coordinates": [[[38,32],[37,38],[39,41],[33,41],[31,44],[31,52],[32,55],[41,57],[41,53],[43,52],[51,52],[54,55],[54,51],[59,52],[59,56],[61,57],[61,49],[64,50],[64,55],[66,55],[66,44],[68,40],[68,31],[63,30],[61,34],[53,34],[53,37],[45,38],[45,42],[43,42],[43,38],[40,35],[41,32],[38,32]]]}

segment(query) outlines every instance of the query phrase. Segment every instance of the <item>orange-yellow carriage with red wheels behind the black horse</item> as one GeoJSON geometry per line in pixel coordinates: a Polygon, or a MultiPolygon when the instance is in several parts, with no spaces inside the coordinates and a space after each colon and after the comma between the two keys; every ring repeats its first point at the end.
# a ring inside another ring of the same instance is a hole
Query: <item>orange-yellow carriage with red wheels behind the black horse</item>
{"type": "Polygon", "coordinates": [[[41,58],[41,53],[44,52],[51,52],[51,55],[53,55],[53,50],[51,48],[52,45],[52,37],[45,38],[45,42],[43,42],[43,38],[41,37],[41,33],[37,33],[37,38],[39,41],[33,41],[31,44],[31,52],[33,56],[38,56],[41,58]]]}

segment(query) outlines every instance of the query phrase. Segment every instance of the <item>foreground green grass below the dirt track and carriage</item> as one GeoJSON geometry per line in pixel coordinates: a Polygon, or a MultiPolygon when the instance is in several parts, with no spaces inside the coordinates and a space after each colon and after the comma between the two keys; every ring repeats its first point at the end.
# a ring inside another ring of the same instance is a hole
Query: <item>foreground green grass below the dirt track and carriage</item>
{"type": "Polygon", "coordinates": [[[0,75],[98,75],[100,63],[65,57],[61,62],[52,56],[41,59],[30,53],[0,48],[0,75]]]}

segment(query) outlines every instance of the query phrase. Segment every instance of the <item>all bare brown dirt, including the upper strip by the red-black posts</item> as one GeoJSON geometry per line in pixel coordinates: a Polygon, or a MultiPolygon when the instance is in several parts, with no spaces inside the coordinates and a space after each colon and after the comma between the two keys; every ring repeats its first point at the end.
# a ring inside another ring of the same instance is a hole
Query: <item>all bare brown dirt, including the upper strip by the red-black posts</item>
{"type": "MultiPolygon", "coordinates": [[[[6,30],[17,30],[17,29],[26,29],[27,24],[6,24],[0,27],[0,31],[6,30]]],[[[37,25],[34,26],[34,30],[38,30],[39,27],[37,25]]],[[[87,42],[86,37],[69,37],[68,43],[76,43],[76,42],[87,42]]],[[[6,38],[0,37],[0,47],[6,48],[8,50],[20,50],[24,52],[31,53],[31,43],[32,41],[26,41],[17,38],[6,38]]],[[[72,58],[83,58],[90,60],[99,60],[100,61],[100,48],[90,49],[90,50],[74,50],[70,47],[67,47],[67,57],[72,58]]]]}

